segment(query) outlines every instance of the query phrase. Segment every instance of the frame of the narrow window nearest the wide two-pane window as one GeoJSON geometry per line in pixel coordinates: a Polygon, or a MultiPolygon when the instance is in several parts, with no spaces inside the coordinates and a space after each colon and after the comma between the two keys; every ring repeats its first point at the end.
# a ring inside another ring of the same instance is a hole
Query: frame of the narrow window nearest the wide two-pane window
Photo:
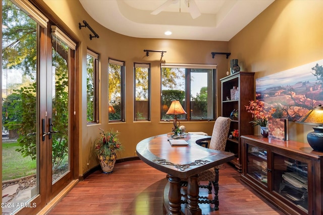
{"type": "Polygon", "coordinates": [[[151,86],[151,81],[150,81],[150,63],[136,63],[134,62],[134,121],[150,121],[150,107],[151,107],[151,104],[150,104],[150,86],[151,86]],[[136,68],[148,68],[148,117],[147,119],[136,119],[136,68]]]}

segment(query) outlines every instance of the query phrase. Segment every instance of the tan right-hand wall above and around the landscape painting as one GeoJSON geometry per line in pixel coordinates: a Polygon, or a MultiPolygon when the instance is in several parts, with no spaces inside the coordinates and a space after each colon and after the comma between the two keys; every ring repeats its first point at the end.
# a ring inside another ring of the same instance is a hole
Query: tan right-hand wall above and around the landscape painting
{"type": "MultiPolygon", "coordinates": [[[[323,1],[275,1],[229,41],[229,51],[255,79],[323,59],[323,1]]],[[[311,127],[289,122],[290,139],[307,142],[311,127]]]]}

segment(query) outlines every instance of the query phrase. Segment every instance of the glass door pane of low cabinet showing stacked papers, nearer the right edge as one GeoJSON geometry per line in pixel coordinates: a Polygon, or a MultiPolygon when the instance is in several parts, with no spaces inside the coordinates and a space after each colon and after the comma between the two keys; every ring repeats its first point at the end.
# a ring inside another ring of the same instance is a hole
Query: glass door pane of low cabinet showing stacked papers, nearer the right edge
{"type": "Polygon", "coordinates": [[[274,191],[308,213],[308,164],[274,153],[274,191]]]}

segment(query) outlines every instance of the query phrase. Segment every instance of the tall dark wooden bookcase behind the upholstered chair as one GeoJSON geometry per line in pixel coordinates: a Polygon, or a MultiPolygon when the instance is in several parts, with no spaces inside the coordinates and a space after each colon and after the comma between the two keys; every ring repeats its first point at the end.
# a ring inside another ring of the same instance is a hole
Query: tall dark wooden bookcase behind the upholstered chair
{"type": "MultiPolygon", "coordinates": [[[[240,71],[231,76],[220,79],[221,81],[221,115],[230,117],[232,111],[238,112],[238,117],[231,120],[229,134],[234,129],[239,130],[239,136],[253,134],[252,115],[247,113],[245,105],[254,99],[254,73],[240,71]],[[236,89],[233,89],[233,88],[236,89]]],[[[235,154],[232,163],[239,172],[242,170],[241,163],[241,138],[228,138],[226,151],[235,154]]]]}

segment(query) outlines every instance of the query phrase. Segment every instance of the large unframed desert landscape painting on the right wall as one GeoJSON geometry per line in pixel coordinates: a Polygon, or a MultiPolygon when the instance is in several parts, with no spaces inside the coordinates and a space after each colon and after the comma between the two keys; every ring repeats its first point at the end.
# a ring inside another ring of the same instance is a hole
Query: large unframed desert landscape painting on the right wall
{"type": "Polygon", "coordinates": [[[323,104],[323,59],[256,79],[256,99],[276,108],[274,118],[297,121],[323,104]]]}

